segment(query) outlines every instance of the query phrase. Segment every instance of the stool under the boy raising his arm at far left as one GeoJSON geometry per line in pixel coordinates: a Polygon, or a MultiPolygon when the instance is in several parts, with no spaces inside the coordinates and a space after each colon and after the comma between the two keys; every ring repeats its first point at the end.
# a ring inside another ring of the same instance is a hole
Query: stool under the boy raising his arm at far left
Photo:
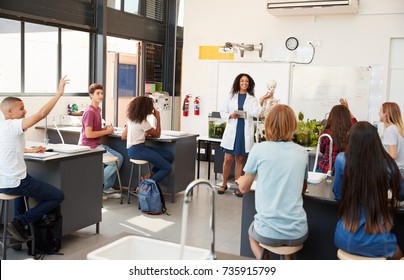
{"type": "MultiPolygon", "coordinates": [[[[2,246],[2,259],[6,260],[7,259],[7,249],[10,248],[12,246],[12,244],[10,242],[7,242],[8,239],[11,238],[11,236],[8,235],[7,232],[7,225],[8,225],[8,207],[9,207],[9,202],[11,200],[14,200],[16,198],[20,197],[20,195],[9,195],[9,194],[4,194],[4,193],[0,193],[0,200],[1,200],[1,214],[0,217],[2,218],[3,221],[3,236],[1,238],[1,246],[2,246]]],[[[25,208],[28,210],[29,209],[29,205],[28,205],[28,201],[27,198],[24,197],[24,203],[25,203],[25,208]]],[[[0,219],[1,219],[0,218],[0,219]]],[[[32,241],[32,251],[35,252],[35,237],[34,237],[34,226],[32,225],[32,223],[29,224],[29,228],[31,231],[31,236],[28,236],[28,240],[27,241],[32,241]]],[[[21,243],[25,243],[22,241],[18,241],[20,244],[21,243]]],[[[18,244],[18,243],[16,243],[18,244]]]]}

